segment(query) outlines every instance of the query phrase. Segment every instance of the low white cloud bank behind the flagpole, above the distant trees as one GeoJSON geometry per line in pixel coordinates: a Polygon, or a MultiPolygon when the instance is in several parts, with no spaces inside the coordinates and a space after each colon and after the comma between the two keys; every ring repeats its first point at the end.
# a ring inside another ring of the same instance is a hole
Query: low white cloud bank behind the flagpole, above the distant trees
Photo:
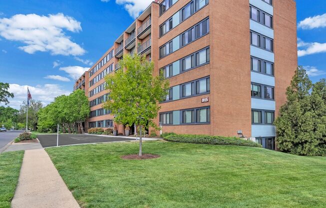
{"type": "MultiPolygon", "coordinates": [[[[68,95],[71,91],[64,90],[58,84],[44,84],[36,86],[28,86],[33,99],[41,100],[44,105],[53,101],[54,97],[61,94],[68,95]]],[[[10,98],[9,106],[19,109],[23,100],[26,100],[27,85],[9,84],[9,91],[14,94],[14,98],[10,98]]]]}

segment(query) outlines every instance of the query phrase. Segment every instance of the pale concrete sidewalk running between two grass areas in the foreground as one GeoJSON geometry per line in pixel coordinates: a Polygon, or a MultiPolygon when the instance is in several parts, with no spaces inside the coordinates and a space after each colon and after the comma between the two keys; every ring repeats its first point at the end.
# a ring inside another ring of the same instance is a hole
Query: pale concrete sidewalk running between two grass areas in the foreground
{"type": "MultiPolygon", "coordinates": [[[[39,143],[38,143],[39,144],[39,143]]],[[[79,207],[43,148],[25,150],[11,207],[79,207]]]]}

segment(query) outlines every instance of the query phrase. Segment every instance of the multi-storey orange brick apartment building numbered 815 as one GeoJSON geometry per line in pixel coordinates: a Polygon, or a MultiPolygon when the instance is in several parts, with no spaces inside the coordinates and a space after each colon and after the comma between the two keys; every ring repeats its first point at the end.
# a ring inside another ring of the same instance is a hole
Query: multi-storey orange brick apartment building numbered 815
{"type": "Polygon", "coordinates": [[[120,68],[123,54],[137,52],[170,82],[156,118],[163,132],[241,130],[275,149],[272,123],[297,67],[296,45],[294,0],[155,0],[76,81],[89,97],[85,129],[113,127],[101,104],[104,76],[120,68]]]}

